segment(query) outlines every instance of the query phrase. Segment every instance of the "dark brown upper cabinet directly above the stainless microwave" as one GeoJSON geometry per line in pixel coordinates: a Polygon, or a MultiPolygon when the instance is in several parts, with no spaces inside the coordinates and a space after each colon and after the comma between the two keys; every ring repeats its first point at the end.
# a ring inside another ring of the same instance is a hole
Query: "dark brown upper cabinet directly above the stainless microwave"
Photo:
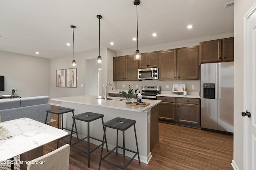
{"type": "Polygon", "coordinates": [[[142,53],[141,59],[138,61],[139,68],[158,67],[158,52],[142,53]]]}

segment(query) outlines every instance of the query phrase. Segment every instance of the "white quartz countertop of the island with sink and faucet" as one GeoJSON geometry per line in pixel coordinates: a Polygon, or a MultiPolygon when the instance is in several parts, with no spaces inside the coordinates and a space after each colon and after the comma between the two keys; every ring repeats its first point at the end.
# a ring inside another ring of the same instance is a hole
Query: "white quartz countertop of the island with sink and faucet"
{"type": "MultiPolygon", "coordinates": [[[[130,106],[129,104],[126,104],[125,98],[119,98],[124,99],[122,101],[116,101],[116,100],[106,100],[100,99],[102,96],[88,96],[88,95],[82,95],[82,96],[70,96],[70,97],[62,97],[62,98],[53,98],[54,101],[59,102],[69,102],[69,103],[75,103],[75,104],[84,104],[84,105],[90,105],[90,106],[99,106],[99,107],[108,107],[113,109],[121,109],[121,110],[129,110],[129,111],[137,111],[137,112],[144,112],[148,109],[151,109],[151,107],[156,106],[161,101],[160,100],[146,100],[143,99],[142,102],[150,103],[148,106],[130,106]]],[[[116,98],[116,97],[108,97],[108,98],[116,98]]],[[[136,99],[131,99],[132,102],[136,102],[136,99]]]]}

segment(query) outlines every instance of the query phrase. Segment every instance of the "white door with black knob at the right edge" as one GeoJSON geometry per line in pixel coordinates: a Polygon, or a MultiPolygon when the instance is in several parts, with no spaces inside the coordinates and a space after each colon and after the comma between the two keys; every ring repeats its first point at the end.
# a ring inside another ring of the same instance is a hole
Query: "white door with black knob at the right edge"
{"type": "MultiPolygon", "coordinates": [[[[256,169],[256,3],[244,16],[244,170],[256,169]],[[247,113],[246,113],[247,112],[247,113]],[[251,117],[249,118],[248,112],[251,117]]],[[[243,115],[243,116],[244,116],[243,115]]]]}

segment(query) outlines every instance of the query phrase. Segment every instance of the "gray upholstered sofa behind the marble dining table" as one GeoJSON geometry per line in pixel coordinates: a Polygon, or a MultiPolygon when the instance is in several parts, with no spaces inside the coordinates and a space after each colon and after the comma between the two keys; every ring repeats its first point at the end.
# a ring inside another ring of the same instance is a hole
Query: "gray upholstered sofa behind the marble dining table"
{"type": "MultiPolygon", "coordinates": [[[[46,110],[50,109],[48,102],[49,96],[0,99],[0,119],[3,122],[28,117],[44,123],[46,110]]],[[[47,122],[50,120],[51,116],[48,114],[47,122]]]]}

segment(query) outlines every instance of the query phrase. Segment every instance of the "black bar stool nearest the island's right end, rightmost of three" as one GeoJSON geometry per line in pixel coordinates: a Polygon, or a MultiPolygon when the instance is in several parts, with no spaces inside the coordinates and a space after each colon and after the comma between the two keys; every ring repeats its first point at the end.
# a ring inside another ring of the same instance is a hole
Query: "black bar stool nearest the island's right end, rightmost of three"
{"type": "Polygon", "coordinates": [[[135,120],[131,120],[131,119],[124,119],[124,118],[120,118],[120,117],[116,117],[110,121],[107,121],[104,123],[103,127],[104,127],[104,135],[103,135],[103,142],[104,143],[104,139],[106,139],[106,128],[110,127],[112,129],[116,129],[116,147],[114,149],[112,149],[110,152],[108,152],[103,158],[102,158],[102,152],[103,152],[103,147],[101,148],[101,153],[100,153],[100,164],[99,164],[99,170],[100,170],[100,165],[101,165],[101,161],[105,161],[108,162],[109,164],[112,164],[120,169],[125,170],[129,164],[132,162],[132,160],[134,160],[135,156],[138,155],[138,159],[139,159],[139,164],[140,164],[140,154],[139,154],[139,148],[138,148],[138,141],[137,141],[137,135],[136,135],[136,129],[135,129],[135,120]],[[129,129],[130,127],[132,127],[132,125],[134,126],[134,133],[135,133],[135,139],[136,139],[136,147],[137,147],[137,152],[130,150],[130,149],[125,149],[125,141],[124,141],[124,131],[126,131],[127,129],[129,129]],[[118,146],[118,130],[123,131],[123,147],[118,146]],[[105,160],[105,158],[116,149],[116,155],[117,155],[117,149],[121,148],[123,149],[123,160],[124,160],[124,166],[119,166],[118,164],[115,164],[113,162],[110,162],[108,160],[105,160]],[[129,152],[133,152],[134,156],[131,158],[131,160],[125,164],[125,150],[128,150],[129,152]]]}

